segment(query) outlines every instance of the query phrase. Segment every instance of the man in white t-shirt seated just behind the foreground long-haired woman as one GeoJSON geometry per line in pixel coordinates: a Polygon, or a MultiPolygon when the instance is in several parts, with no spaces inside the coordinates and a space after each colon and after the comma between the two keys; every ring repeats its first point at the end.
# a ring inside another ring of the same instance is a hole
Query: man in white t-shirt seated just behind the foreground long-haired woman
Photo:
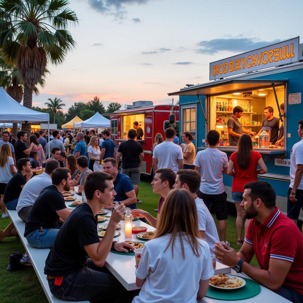
{"type": "Polygon", "coordinates": [[[215,221],[202,199],[196,196],[196,192],[201,182],[198,171],[192,169],[180,169],[177,171],[177,178],[174,188],[184,188],[195,199],[198,214],[198,229],[201,238],[207,242],[211,254],[213,254],[215,242],[219,241],[218,231],[215,221]]]}

